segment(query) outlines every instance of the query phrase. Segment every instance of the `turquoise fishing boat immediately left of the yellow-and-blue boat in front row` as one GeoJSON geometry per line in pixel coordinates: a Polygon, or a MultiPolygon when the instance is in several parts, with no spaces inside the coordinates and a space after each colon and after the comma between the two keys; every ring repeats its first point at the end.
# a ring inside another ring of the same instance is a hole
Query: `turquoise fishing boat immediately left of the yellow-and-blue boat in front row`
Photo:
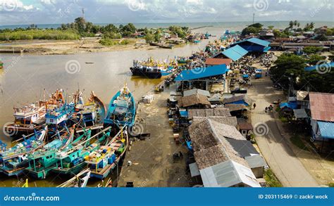
{"type": "Polygon", "coordinates": [[[87,167],[85,157],[94,150],[99,149],[101,144],[105,143],[106,139],[110,137],[110,131],[111,127],[104,129],[91,137],[91,131],[89,130],[85,134],[85,139],[81,139],[80,142],[73,142],[72,148],[68,150],[59,150],[55,157],[58,159],[59,163],[57,167],[52,169],[52,172],[63,175],[77,174],[80,172],[82,169],[87,167]],[[90,143],[90,141],[96,137],[98,137],[97,141],[90,143]]]}

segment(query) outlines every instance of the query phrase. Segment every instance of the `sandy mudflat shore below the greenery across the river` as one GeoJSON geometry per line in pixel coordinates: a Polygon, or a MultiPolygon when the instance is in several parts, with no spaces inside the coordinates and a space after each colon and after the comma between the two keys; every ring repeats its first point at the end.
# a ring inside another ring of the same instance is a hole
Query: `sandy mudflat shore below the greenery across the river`
{"type": "Polygon", "coordinates": [[[142,51],[161,49],[158,46],[149,46],[140,39],[127,39],[126,45],[103,46],[99,44],[100,38],[87,38],[80,40],[29,40],[29,41],[0,41],[0,51],[22,51],[23,53],[37,55],[73,54],[105,51],[125,51],[138,49],[142,51]]]}

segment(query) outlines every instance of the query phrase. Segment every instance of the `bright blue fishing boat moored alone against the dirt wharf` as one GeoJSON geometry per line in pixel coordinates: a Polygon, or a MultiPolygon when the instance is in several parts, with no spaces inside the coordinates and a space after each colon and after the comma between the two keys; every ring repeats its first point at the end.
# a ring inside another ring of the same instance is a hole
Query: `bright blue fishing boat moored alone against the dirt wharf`
{"type": "Polygon", "coordinates": [[[135,115],[135,98],[125,85],[111,98],[104,124],[131,127],[135,123],[135,115]]]}

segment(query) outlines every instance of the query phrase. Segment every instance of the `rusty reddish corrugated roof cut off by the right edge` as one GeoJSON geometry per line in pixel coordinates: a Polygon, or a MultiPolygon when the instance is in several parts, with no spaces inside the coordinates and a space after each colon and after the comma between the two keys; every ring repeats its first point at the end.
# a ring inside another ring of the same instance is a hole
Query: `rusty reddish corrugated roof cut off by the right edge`
{"type": "Polygon", "coordinates": [[[334,122],[334,94],[310,92],[309,104],[313,120],[334,122]]]}

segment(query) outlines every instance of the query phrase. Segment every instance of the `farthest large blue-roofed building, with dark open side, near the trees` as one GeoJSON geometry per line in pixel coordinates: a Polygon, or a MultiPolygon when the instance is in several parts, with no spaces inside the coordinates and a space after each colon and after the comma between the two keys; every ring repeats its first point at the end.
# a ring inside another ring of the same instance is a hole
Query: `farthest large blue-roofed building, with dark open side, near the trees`
{"type": "Polygon", "coordinates": [[[241,46],[248,52],[267,52],[271,47],[269,46],[269,41],[264,41],[257,38],[244,39],[242,41],[237,41],[231,46],[241,46]]]}

